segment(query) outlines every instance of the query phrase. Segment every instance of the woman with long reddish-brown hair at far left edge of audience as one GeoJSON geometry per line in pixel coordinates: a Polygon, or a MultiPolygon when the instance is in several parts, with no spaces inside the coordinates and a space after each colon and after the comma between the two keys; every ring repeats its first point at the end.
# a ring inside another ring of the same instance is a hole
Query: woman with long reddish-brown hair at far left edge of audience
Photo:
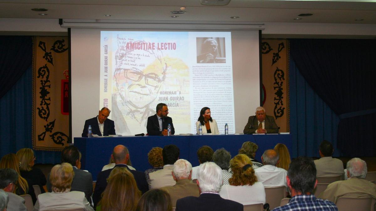
{"type": "Polygon", "coordinates": [[[4,155],[0,160],[0,169],[13,169],[18,174],[18,179],[16,182],[16,190],[15,194],[18,196],[29,194],[33,199],[33,204],[36,202],[34,188],[31,184],[29,179],[24,179],[20,174],[20,161],[16,154],[8,154],[4,155]]]}

